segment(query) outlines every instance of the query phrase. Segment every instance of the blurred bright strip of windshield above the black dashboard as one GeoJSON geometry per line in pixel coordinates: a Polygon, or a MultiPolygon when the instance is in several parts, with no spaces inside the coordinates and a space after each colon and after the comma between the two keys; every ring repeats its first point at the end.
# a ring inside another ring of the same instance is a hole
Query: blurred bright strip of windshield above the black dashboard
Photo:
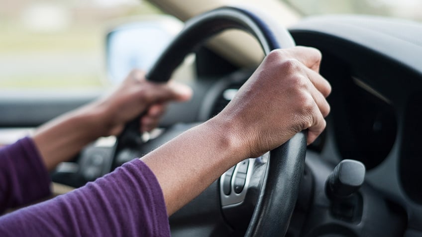
{"type": "Polygon", "coordinates": [[[369,14],[422,21],[421,0],[283,0],[304,15],[369,14]]]}

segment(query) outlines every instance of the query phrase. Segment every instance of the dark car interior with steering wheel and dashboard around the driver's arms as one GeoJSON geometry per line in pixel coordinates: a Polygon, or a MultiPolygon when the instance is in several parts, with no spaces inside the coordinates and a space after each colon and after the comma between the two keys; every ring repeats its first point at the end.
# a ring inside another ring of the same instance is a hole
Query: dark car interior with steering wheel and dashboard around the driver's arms
{"type": "MultiPolygon", "coordinates": [[[[308,147],[298,134],[227,170],[169,217],[172,236],[422,236],[421,21],[305,16],[281,0],[149,2],[167,15],[113,22],[104,33],[106,76],[117,84],[140,65],[153,81],[189,84],[193,98],[170,104],[150,133],[128,123],[61,163],[51,173],[56,194],[215,116],[271,50],[309,46],[321,51],[320,74],[332,86],[325,131],[308,147]]],[[[104,92],[2,89],[1,145],[104,92]]]]}

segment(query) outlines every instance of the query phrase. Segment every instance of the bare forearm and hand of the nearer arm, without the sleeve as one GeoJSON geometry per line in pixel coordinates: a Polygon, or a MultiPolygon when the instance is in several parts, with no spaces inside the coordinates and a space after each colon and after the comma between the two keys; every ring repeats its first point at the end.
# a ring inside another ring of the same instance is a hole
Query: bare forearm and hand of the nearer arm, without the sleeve
{"type": "Polygon", "coordinates": [[[317,138],[331,90],[318,74],[320,59],[310,48],[273,51],[221,113],[142,158],[157,176],[169,215],[241,160],[304,129],[308,144],[317,138]]]}

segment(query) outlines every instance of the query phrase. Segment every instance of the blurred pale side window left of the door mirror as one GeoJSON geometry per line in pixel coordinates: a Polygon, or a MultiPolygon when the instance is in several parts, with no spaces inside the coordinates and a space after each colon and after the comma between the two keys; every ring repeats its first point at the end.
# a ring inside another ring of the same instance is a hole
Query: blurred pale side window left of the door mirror
{"type": "Polygon", "coordinates": [[[98,88],[110,22],[162,14],[139,0],[0,0],[0,88],[98,88]]]}

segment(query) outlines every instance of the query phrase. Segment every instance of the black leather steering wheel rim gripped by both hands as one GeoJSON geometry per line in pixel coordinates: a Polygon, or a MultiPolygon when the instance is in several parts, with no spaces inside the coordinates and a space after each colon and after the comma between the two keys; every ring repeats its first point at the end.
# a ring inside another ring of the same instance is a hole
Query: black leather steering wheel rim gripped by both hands
{"type": "MultiPolygon", "coordinates": [[[[226,30],[240,29],[250,33],[260,43],[265,54],[281,47],[294,47],[289,32],[277,22],[256,10],[221,7],[186,22],[185,28],[162,53],[147,79],[166,82],[185,56],[201,46],[211,36],[226,30]]],[[[115,156],[125,146],[138,146],[139,119],[127,124],[117,138],[115,156]]],[[[282,146],[270,152],[268,168],[246,236],[285,235],[299,192],[306,153],[306,132],[296,134],[282,146]]]]}

